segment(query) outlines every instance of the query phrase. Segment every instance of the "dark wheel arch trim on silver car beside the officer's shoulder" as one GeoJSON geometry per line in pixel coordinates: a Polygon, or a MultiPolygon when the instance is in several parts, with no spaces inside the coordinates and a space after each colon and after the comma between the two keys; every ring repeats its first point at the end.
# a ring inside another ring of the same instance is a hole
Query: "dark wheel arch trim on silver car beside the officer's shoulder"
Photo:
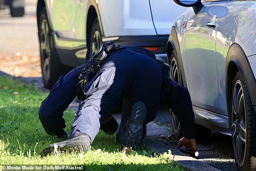
{"type": "Polygon", "coordinates": [[[169,41],[167,42],[168,63],[170,62],[170,58],[171,58],[171,54],[172,54],[173,50],[176,52],[176,55],[177,55],[177,58],[178,58],[178,63],[179,63],[179,66],[180,66],[180,72],[181,72],[181,76],[182,76],[182,79],[183,79],[184,87],[187,87],[185,70],[184,70],[184,67],[183,67],[183,61],[182,61],[181,53],[180,53],[180,45],[179,45],[179,42],[178,42],[178,37],[177,37],[177,32],[176,32],[175,27],[172,27],[170,37],[169,37],[169,41]]]}

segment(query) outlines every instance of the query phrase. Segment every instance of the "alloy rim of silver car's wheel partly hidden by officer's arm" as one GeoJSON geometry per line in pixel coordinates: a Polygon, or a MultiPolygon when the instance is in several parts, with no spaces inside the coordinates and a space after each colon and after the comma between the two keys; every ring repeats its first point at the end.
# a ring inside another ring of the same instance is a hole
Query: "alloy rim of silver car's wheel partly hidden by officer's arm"
{"type": "MultiPolygon", "coordinates": [[[[169,75],[171,76],[171,78],[175,81],[178,82],[178,84],[180,84],[180,78],[179,78],[179,74],[178,74],[178,64],[175,58],[172,58],[171,63],[170,63],[170,73],[169,75]]],[[[172,115],[172,128],[174,130],[174,132],[177,134],[178,130],[180,129],[180,122],[178,120],[178,117],[176,117],[176,115],[172,115]]]]}

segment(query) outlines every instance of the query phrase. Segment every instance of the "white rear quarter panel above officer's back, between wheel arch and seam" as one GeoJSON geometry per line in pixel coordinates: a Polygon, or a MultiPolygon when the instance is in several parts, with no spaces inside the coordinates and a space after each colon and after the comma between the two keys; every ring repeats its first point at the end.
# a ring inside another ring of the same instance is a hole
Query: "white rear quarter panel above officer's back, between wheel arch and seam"
{"type": "Polygon", "coordinates": [[[149,0],[99,0],[104,36],[156,35],[149,0]]]}

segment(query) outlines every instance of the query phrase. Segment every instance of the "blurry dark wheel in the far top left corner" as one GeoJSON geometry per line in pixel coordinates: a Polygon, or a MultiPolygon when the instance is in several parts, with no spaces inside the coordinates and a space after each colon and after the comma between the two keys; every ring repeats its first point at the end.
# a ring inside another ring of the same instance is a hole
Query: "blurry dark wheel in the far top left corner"
{"type": "Polygon", "coordinates": [[[24,0],[13,0],[10,2],[10,15],[13,17],[23,16],[25,14],[24,10],[24,0]]]}

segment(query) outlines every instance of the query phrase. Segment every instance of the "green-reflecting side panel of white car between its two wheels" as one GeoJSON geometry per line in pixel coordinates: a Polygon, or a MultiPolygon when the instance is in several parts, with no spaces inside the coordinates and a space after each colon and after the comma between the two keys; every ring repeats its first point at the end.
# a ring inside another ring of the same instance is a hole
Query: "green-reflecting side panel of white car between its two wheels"
{"type": "MultiPolygon", "coordinates": [[[[88,0],[46,1],[57,48],[86,48],[85,10],[88,0]],[[76,11],[76,12],[73,12],[76,11]]],[[[80,56],[77,56],[81,58],[80,56]]]]}

